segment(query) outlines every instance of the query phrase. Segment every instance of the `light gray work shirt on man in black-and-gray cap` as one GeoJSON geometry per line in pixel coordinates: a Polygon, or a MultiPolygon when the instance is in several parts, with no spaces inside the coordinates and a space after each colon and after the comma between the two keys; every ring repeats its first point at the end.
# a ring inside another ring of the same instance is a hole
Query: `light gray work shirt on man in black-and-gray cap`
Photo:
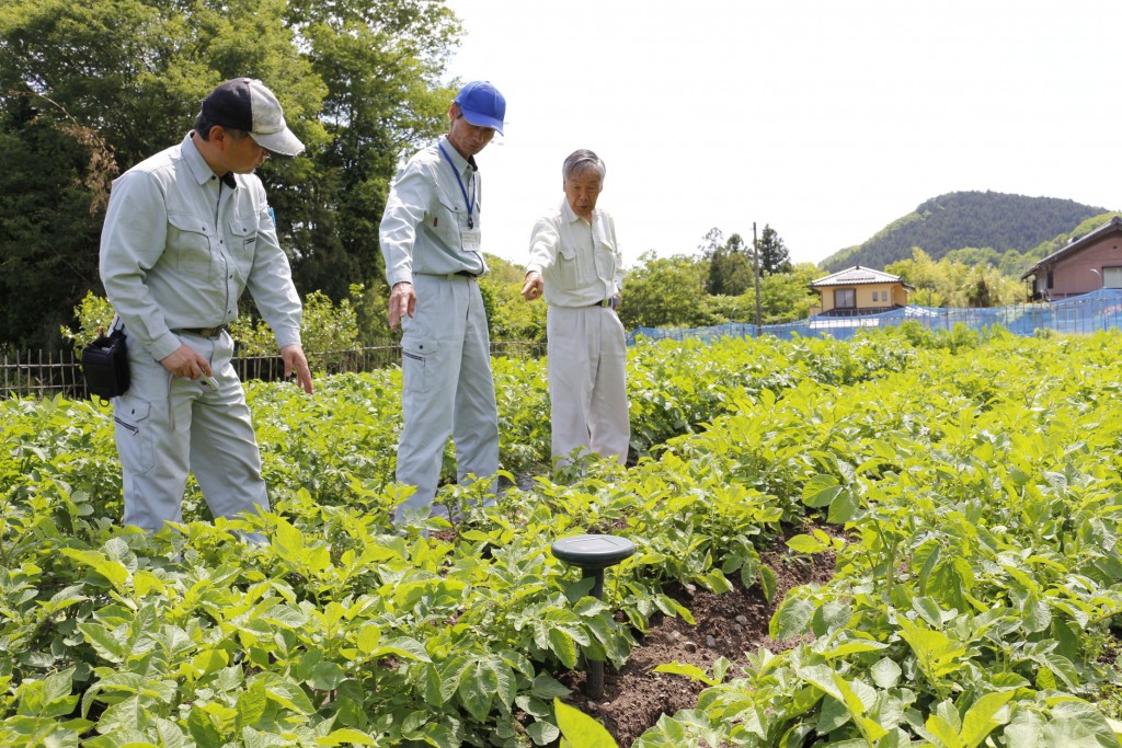
{"type": "Polygon", "coordinates": [[[101,280],[129,338],[157,361],[175,330],[238,316],[248,288],[283,348],[300,343],[301,302],[255,174],[219,179],[187,133],[113,182],[101,231],[101,280]]]}

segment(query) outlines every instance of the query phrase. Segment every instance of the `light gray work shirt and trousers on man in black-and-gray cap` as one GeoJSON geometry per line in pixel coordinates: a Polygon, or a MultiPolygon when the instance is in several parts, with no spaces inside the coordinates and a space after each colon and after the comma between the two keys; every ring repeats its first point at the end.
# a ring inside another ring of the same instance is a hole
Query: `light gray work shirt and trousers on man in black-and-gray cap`
{"type": "Polygon", "coordinates": [[[260,179],[219,179],[188,133],[113,182],[100,260],[131,368],[129,390],[113,398],[125,524],[155,532],[181,521],[188,470],[215,517],[268,509],[223,329],[248,288],[277,342],[300,344],[300,296],[260,179]],[[160,364],[182,343],[208,359],[218,393],[160,364]]]}

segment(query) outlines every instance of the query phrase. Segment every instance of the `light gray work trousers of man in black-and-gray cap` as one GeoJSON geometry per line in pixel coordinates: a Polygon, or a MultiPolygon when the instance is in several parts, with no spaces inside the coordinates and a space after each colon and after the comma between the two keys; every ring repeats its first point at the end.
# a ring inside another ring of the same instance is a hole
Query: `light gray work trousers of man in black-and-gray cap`
{"type": "Polygon", "coordinates": [[[226,332],[180,338],[210,361],[218,393],[202,380],[173,377],[129,340],[129,389],[113,398],[125,524],[148,532],[183,520],[188,470],[215,517],[269,508],[246,394],[230,363],[233,339],[226,332]]]}

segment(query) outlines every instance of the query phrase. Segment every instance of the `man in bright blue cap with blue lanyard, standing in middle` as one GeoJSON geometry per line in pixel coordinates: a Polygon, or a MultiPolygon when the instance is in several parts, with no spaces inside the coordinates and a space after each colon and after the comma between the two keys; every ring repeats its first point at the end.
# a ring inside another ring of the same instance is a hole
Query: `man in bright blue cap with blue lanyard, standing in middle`
{"type": "Polygon", "coordinates": [[[449,107],[448,135],[398,172],[381,218],[389,327],[404,332],[397,480],[416,487],[396,523],[431,510],[449,435],[461,482],[498,471],[490,340],[476,281],[487,264],[475,157],[502,135],[505,114],[506,100],[490,83],[465,85],[449,107]]]}

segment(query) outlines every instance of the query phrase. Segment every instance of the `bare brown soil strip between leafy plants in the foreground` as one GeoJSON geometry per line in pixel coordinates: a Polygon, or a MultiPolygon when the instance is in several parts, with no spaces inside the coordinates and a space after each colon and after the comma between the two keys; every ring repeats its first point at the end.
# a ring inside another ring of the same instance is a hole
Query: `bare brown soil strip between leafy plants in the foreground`
{"type": "Polygon", "coordinates": [[[775,550],[761,555],[778,582],[771,603],[764,600],[758,584],[745,590],[737,582],[724,594],[682,588],[673,590],[671,594],[693,613],[696,626],[680,618],[655,618],[623,669],[615,672],[610,665],[606,667],[604,696],[599,701],[591,702],[585,695],[583,673],[562,676],[561,681],[573,690],[569,703],[596,718],[626,748],[663,714],[672,715],[696,707],[698,694],[705,687],[679,675],[655,673],[659,665],[688,663],[711,672],[718,658],[727,657],[734,663],[730,676],[735,676],[739,672],[737,666],[746,663],[745,653],[760,647],[772,652],[781,649],[782,646],[767,635],[772,613],[792,588],[828,581],[834,575],[835,558],[833,553],[795,557],[782,539],[775,550]]]}

